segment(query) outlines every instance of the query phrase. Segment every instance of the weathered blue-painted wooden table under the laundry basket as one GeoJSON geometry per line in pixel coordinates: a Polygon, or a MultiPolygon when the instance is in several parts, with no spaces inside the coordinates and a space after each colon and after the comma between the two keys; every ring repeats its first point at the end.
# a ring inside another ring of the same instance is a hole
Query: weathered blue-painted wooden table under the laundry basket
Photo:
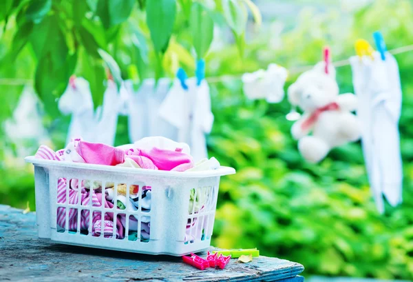
{"type": "Polygon", "coordinates": [[[0,205],[0,281],[304,281],[299,263],[266,256],[236,261],[201,271],[179,257],[61,245],[37,238],[34,212],[0,205]]]}

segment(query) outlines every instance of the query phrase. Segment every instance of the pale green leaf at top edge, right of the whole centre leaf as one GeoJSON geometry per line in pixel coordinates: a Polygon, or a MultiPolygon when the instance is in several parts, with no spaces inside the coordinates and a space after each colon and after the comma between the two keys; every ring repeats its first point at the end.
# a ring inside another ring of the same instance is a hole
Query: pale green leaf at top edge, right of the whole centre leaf
{"type": "Polygon", "coordinates": [[[245,6],[239,0],[222,0],[222,10],[226,23],[237,34],[244,32],[247,14],[245,6]]]}

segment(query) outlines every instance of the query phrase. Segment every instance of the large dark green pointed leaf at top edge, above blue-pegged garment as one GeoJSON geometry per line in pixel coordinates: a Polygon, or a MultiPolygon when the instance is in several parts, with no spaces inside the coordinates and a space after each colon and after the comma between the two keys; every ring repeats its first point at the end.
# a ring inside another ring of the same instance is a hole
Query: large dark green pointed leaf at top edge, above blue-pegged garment
{"type": "Polygon", "coordinates": [[[156,52],[165,53],[175,22],[176,0],[147,2],[147,25],[156,52]]]}

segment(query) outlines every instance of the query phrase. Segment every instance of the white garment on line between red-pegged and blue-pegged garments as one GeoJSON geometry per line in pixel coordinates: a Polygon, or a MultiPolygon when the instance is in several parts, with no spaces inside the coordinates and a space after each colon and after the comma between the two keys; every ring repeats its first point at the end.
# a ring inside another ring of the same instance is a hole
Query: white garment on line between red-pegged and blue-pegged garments
{"type": "Polygon", "coordinates": [[[162,119],[158,112],[162,101],[167,96],[171,79],[145,79],[138,90],[134,90],[131,81],[125,81],[129,94],[127,112],[129,114],[129,139],[134,143],[144,137],[162,136],[178,139],[178,130],[162,119]]]}

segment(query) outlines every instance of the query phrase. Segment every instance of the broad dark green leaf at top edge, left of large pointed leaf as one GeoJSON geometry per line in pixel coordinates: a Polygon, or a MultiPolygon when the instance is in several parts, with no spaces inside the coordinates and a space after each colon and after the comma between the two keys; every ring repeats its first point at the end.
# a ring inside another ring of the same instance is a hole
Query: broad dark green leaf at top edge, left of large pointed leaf
{"type": "Polygon", "coordinates": [[[127,20],[134,8],[135,0],[99,0],[96,14],[108,29],[127,20]]]}

